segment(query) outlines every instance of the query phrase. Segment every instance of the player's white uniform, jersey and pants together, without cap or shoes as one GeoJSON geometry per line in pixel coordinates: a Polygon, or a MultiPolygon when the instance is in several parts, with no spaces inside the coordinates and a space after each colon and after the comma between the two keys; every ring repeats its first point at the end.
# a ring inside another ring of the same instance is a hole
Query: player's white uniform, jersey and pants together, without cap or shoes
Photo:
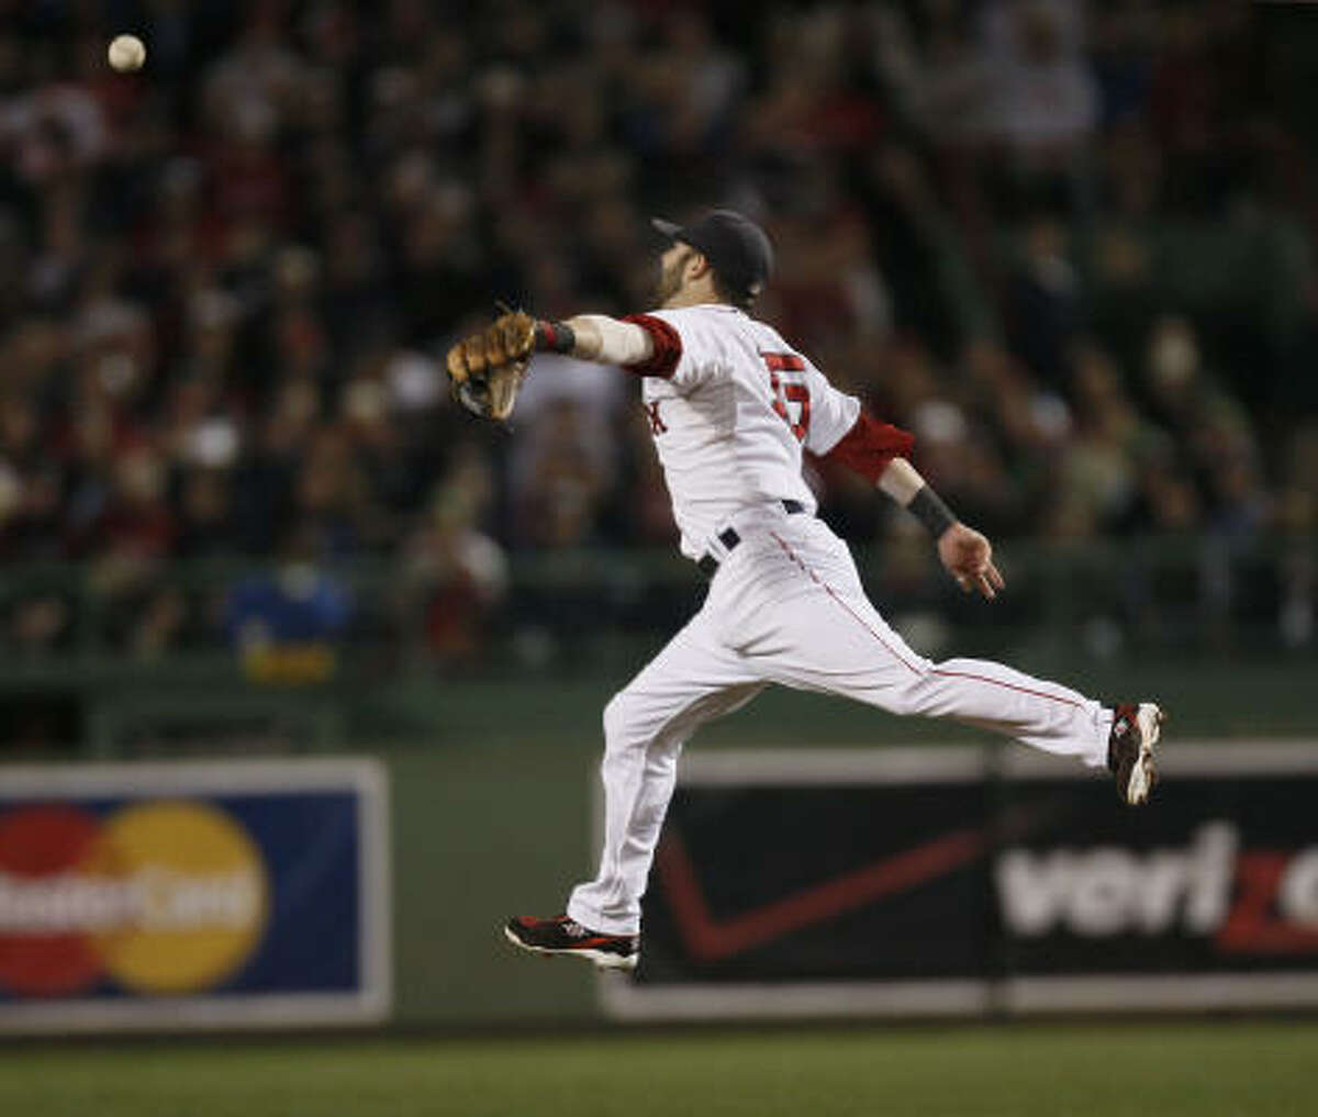
{"type": "Polygon", "coordinates": [[[639,933],[683,744],[770,682],[954,718],[1106,764],[1111,710],[1000,664],[932,663],[866,598],[801,477],[803,448],[826,456],[873,423],[859,400],[734,307],[631,321],[654,340],[655,356],[635,370],[681,551],[718,568],[701,610],[605,707],[604,850],[596,879],[572,892],[571,918],[604,934],[639,933]]]}

